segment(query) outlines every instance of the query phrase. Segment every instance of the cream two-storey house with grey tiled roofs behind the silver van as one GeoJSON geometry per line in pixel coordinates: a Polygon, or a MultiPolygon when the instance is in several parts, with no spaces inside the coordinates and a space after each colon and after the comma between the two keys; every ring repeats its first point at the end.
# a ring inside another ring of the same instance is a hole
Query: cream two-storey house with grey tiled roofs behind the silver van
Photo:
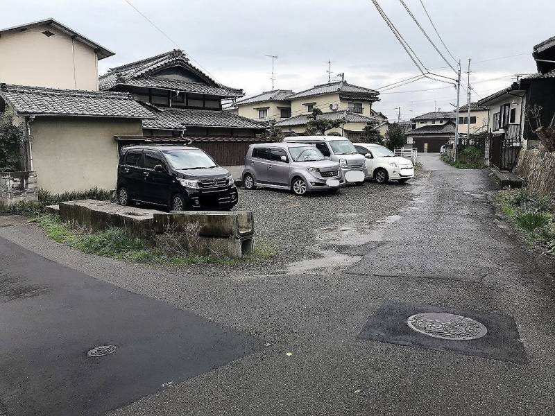
{"type": "Polygon", "coordinates": [[[285,98],[291,103],[291,118],[276,123],[284,132],[301,135],[305,132],[308,116],[314,108],[322,110],[319,117],[345,123],[328,132],[339,132],[348,139],[357,140],[368,124],[378,121],[372,114],[372,103],[379,101],[374,89],[349,84],[345,80],[315,85],[285,98]]]}

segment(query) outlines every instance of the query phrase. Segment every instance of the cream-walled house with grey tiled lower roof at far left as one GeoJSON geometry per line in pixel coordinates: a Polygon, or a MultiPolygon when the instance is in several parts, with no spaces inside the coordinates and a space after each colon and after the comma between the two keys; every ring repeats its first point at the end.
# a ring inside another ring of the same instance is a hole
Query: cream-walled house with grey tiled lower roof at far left
{"type": "Polygon", "coordinates": [[[24,126],[22,172],[13,175],[27,189],[115,187],[114,136],[140,135],[155,114],[129,94],[98,91],[98,61],[110,55],[54,19],[0,30],[0,113],[24,126]]]}

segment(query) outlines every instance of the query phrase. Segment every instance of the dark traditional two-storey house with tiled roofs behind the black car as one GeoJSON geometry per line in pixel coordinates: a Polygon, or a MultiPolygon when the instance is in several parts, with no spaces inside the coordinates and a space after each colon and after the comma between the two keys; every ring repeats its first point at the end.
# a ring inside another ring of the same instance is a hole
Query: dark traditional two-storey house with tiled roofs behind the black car
{"type": "Polygon", "coordinates": [[[110,69],[100,77],[100,89],[128,92],[160,112],[143,122],[141,137],[118,137],[122,144],[183,136],[219,164],[233,165],[244,163],[249,144],[264,141],[264,123],[222,110],[223,100],[243,91],[218,83],[178,49],[110,69]]]}

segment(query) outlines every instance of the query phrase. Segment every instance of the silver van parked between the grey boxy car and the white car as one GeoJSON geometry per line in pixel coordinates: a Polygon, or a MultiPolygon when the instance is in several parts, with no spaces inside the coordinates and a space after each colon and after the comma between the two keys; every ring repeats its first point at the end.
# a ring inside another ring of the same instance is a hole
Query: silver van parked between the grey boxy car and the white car
{"type": "Polygon", "coordinates": [[[339,162],[346,182],[364,183],[366,164],[352,143],[341,136],[287,137],[286,143],[313,144],[326,159],[339,162]]]}

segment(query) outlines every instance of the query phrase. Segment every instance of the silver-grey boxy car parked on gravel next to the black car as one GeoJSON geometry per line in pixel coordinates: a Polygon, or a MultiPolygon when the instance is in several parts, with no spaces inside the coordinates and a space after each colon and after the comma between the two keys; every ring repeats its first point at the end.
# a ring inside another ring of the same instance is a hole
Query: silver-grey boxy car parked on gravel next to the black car
{"type": "Polygon", "coordinates": [[[246,189],[290,189],[296,195],[345,186],[339,163],[326,160],[316,147],[302,143],[251,144],[241,177],[246,189]]]}

